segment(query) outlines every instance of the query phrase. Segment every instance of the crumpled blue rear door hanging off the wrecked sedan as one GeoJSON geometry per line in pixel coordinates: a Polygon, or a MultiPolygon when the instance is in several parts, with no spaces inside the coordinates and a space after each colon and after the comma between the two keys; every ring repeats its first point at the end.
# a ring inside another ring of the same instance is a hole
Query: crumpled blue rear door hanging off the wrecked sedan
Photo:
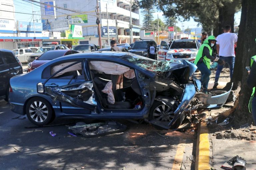
{"type": "Polygon", "coordinates": [[[96,108],[93,83],[84,65],[84,61],[65,61],[50,66],[51,76],[44,82],[44,92],[53,103],[62,103],[60,107],[65,113],[74,112],[74,109],[81,111],[79,108],[87,111],[96,108]]]}

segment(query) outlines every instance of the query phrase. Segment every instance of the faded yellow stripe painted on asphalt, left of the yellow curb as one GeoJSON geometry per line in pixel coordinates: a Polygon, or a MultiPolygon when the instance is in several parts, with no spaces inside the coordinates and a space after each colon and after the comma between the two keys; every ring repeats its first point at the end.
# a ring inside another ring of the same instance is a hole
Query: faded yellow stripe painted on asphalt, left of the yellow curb
{"type": "Polygon", "coordinates": [[[184,150],[185,150],[184,140],[180,139],[177,147],[176,155],[174,157],[172,170],[180,170],[181,163],[183,160],[184,150]]]}

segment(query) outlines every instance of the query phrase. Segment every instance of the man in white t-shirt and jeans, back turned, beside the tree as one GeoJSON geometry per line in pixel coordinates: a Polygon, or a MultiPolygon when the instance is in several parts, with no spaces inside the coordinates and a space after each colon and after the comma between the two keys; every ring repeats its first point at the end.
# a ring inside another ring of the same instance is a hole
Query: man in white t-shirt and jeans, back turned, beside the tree
{"type": "MultiPolygon", "coordinates": [[[[229,65],[230,79],[233,76],[234,63],[235,63],[235,48],[237,42],[237,35],[231,33],[231,26],[226,25],[224,27],[224,33],[216,38],[216,47],[219,58],[223,59],[229,65]]],[[[223,65],[217,67],[215,81],[213,88],[217,88],[220,72],[223,69],[223,65]]]]}

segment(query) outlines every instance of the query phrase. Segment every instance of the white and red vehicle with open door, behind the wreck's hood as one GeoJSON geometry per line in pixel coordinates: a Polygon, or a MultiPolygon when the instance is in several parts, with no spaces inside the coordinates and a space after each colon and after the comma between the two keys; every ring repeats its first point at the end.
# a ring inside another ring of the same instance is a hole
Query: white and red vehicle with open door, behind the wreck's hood
{"type": "Polygon", "coordinates": [[[158,51],[158,57],[159,60],[178,61],[185,59],[194,62],[199,47],[199,42],[193,39],[174,40],[170,47],[167,42],[162,41],[158,51]]]}

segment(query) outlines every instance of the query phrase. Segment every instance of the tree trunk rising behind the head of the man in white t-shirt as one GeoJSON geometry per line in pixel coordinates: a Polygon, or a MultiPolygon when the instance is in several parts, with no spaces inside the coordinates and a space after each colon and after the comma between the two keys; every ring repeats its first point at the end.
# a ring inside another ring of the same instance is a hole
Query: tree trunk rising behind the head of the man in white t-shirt
{"type": "Polygon", "coordinates": [[[230,25],[231,32],[234,32],[235,3],[235,1],[231,3],[224,3],[224,6],[219,8],[218,35],[223,33],[222,28],[224,28],[225,25],[230,25]]]}

